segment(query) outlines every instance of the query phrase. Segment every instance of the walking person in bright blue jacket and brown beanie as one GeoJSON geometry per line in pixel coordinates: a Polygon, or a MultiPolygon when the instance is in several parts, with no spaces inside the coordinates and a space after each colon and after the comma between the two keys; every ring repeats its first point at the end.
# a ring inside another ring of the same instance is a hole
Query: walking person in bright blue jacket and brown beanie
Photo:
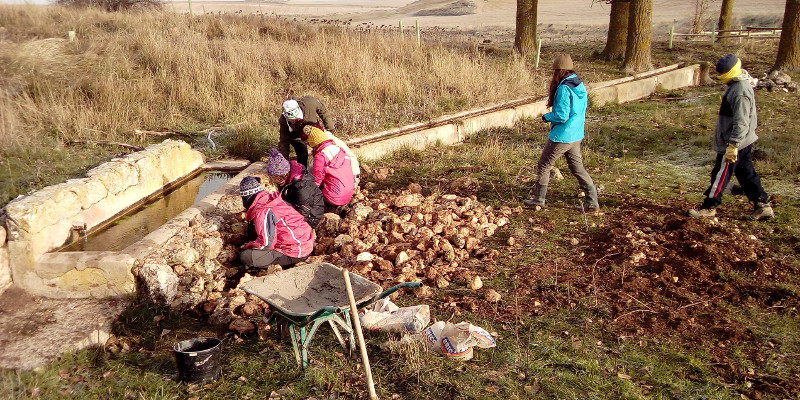
{"type": "Polygon", "coordinates": [[[550,171],[556,160],[563,155],[567,159],[570,172],[578,179],[581,189],[586,194],[583,209],[587,212],[596,212],[600,209],[597,203],[597,188],[592,177],[586,172],[581,156],[587,100],[586,87],[573,70],[572,58],[569,54],[556,57],[553,62],[553,80],[550,82],[547,98],[547,106],[552,107],[552,111],[542,115],[542,121],[550,123],[550,133],[539,158],[533,198],[523,200],[526,206],[544,205],[550,171]]]}

